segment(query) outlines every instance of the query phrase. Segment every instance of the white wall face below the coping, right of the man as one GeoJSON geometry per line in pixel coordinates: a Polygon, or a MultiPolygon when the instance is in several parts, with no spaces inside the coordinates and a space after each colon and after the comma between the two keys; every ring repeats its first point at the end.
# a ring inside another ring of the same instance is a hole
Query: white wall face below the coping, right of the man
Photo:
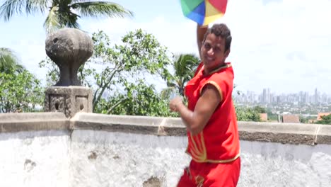
{"type": "Polygon", "coordinates": [[[330,145],[241,141],[238,186],[331,186],[330,145]]]}

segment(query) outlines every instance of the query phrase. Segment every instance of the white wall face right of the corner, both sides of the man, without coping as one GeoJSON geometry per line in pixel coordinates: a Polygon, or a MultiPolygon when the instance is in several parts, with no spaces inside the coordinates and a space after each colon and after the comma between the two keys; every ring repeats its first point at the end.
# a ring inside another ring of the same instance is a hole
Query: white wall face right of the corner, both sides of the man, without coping
{"type": "MultiPolygon", "coordinates": [[[[189,162],[186,137],[75,130],[71,142],[74,186],[142,186],[151,176],[175,186],[189,162]],[[88,155],[95,152],[95,159],[88,155]]],[[[238,186],[331,186],[330,145],[241,141],[238,186]]]]}

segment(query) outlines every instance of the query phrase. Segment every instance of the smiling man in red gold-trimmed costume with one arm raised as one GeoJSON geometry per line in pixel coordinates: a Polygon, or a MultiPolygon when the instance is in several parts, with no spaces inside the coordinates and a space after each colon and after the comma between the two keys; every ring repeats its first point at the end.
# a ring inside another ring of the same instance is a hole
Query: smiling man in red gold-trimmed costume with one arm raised
{"type": "Polygon", "coordinates": [[[225,62],[231,40],[225,24],[197,26],[202,62],[185,87],[188,106],[180,97],[170,101],[170,109],[180,114],[187,127],[187,154],[192,157],[179,187],[237,186],[240,145],[232,101],[234,76],[231,63],[225,62]]]}

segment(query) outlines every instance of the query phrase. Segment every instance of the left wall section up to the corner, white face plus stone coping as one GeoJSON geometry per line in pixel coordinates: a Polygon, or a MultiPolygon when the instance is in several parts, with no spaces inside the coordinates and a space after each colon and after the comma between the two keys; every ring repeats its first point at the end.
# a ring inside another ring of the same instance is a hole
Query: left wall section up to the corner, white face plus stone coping
{"type": "Polygon", "coordinates": [[[68,129],[62,113],[0,114],[0,186],[71,186],[68,129]]]}

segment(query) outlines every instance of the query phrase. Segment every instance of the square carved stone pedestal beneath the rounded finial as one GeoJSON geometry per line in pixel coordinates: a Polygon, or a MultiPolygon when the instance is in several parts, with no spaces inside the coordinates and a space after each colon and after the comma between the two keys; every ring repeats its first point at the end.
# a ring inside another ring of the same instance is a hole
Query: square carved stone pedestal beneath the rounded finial
{"type": "Polygon", "coordinates": [[[52,86],[45,94],[45,112],[61,112],[67,118],[79,112],[92,113],[93,93],[84,86],[52,86]]]}

